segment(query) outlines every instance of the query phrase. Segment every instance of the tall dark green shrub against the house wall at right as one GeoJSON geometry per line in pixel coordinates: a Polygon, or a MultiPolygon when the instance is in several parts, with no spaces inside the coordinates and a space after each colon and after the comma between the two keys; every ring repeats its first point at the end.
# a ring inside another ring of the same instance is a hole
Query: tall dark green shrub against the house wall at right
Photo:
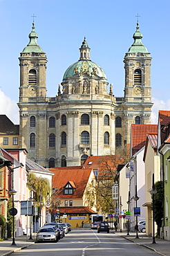
{"type": "Polygon", "coordinates": [[[155,190],[157,193],[155,194],[155,203],[154,203],[154,219],[158,226],[158,237],[160,237],[160,228],[162,226],[162,218],[163,218],[163,201],[164,201],[164,190],[163,190],[163,182],[157,181],[155,183],[155,190]]]}

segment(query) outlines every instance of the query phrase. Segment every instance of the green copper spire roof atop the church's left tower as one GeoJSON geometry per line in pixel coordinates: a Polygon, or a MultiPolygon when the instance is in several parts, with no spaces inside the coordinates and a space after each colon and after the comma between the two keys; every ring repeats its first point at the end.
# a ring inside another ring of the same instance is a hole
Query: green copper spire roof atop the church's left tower
{"type": "Polygon", "coordinates": [[[32,31],[28,35],[30,38],[29,44],[23,49],[22,53],[44,53],[42,48],[37,44],[38,35],[35,32],[35,24],[32,23],[32,31]]]}

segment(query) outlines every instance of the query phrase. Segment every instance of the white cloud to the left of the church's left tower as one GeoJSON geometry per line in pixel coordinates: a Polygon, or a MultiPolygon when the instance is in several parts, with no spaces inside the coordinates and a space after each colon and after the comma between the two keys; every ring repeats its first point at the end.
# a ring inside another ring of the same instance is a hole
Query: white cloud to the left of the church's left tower
{"type": "Polygon", "coordinates": [[[11,100],[0,90],[0,114],[6,115],[15,124],[19,124],[19,107],[15,100],[11,100]]]}

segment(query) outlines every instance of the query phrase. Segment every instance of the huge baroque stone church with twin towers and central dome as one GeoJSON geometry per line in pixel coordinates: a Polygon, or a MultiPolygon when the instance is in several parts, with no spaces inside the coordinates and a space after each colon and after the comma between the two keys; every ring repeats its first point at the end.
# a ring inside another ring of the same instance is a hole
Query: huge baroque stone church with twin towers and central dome
{"type": "Polygon", "coordinates": [[[44,167],[81,165],[91,155],[115,154],[130,143],[131,124],[151,123],[151,55],[139,24],[124,57],[124,97],[113,95],[104,70],[91,61],[86,42],[70,65],[58,93],[46,96],[46,53],[35,24],[19,57],[19,145],[44,167]]]}

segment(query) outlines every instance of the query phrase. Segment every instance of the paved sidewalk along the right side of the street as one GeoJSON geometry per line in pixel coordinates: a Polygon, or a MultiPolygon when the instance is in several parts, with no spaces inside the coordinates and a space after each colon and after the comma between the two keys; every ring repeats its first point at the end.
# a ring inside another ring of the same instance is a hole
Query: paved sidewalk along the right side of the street
{"type": "Polygon", "coordinates": [[[110,232],[114,232],[115,235],[119,235],[120,237],[124,237],[125,239],[128,239],[129,241],[132,241],[135,244],[139,244],[140,246],[147,247],[151,250],[154,250],[155,253],[158,253],[162,256],[170,256],[170,241],[155,238],[156,244],[152,244],[153,238],[148,237],[144,233],[138,232],[138,237],[136,237],[135,232],[129,232],[129,235],[126,235],[127,232],[120,232],[119,230],[114,231],[110,230],[110,232]]]}

